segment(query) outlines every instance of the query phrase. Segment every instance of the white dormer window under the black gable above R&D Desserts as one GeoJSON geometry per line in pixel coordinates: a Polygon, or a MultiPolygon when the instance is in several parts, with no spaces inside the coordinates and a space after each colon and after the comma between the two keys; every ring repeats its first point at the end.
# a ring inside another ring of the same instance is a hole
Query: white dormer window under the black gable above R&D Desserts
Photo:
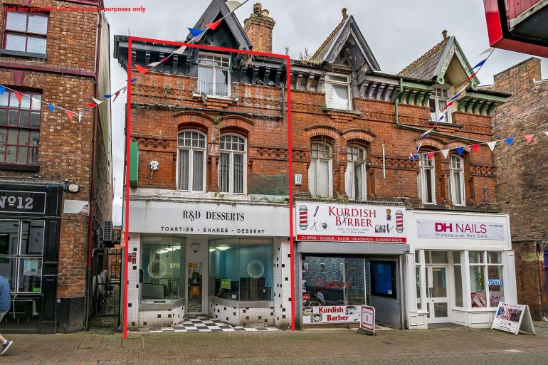
{"type": "Polygon", "coordinates": [[[230,96],[230,57],[200,53],[198,57],[198,92],[206,95],[230,96]]]}

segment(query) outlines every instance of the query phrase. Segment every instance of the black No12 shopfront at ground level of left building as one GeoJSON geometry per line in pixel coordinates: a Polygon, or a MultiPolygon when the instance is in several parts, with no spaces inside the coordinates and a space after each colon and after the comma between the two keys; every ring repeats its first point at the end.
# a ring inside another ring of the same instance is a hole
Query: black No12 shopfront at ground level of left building
{"type": "Polygon", "coordinates": [[[0,184],[0,275],[11,286],[0,333],[56,333],[62,197],[59,185],[0,184]]]}

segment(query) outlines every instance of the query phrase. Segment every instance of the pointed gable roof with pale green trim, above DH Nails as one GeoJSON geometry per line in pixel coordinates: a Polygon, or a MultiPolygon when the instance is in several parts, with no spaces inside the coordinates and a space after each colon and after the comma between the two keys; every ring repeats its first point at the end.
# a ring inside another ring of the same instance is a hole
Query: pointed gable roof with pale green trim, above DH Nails
{"type": "MultiPolygon", "coordinates": [[[[448,37],[447,31],[442,32],[443,40],[433,46],[428,52],[414,60],[398,75],[406,78],[415,78],[418,80],[436,81],[444,83],[446,72],[453,59],[460,65],[460,73],[463,80],[455,80],[455,83],[463,82],[468,76],[472,75],[470,63],[460,48],[455,36],[448,37]]],[[[475,85],[478,85],[478,78],[474,78],[475,85]]]]}

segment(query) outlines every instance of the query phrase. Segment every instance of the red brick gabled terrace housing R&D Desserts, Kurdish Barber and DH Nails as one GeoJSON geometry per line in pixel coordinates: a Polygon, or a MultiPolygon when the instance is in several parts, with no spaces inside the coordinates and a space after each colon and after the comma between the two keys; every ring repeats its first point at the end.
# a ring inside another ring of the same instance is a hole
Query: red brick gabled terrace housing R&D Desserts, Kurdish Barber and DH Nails
{"type": "MultiPolygon", "coordinates": [[[[194,28],[227,17],[196,47],[132,40],[132,68],[160,63],[132,85],[128,106],[130,327],[189,314],[288,327],[293,311],[297,327],[348,324],[362,304],[395,328],[488,327],[500,300],[515,301],[510,226],[485,145],[509,94],[468,82],[470,63],[446,32],[399,75],[381,73],[342,13],[290,67],[238,53],[272,51],[275,21],[260,4],[242,28],[211,1],[194,28]]],[[[128,48],[115,36],[126,70],[128,48]]]]}

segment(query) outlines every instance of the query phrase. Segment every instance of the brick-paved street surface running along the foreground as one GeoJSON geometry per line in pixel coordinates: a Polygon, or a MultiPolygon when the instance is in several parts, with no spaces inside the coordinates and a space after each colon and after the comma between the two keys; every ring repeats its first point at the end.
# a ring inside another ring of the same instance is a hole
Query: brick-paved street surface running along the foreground
{"type": "Polygon", "coordinates": [[[536,336],[448,327],[128,334],[4,334],[14,341],[1,365],[112,364],[548,364],[548,324],[536,336]]]}

